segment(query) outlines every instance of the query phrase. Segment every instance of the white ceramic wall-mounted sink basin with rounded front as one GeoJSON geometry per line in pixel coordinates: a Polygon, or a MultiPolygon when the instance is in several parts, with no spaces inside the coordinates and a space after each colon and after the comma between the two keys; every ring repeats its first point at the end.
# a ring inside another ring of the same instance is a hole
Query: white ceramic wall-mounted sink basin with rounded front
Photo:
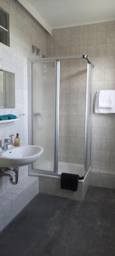
{"type": "Polygon", "coordinates": [[[0,167],[24,166],[35,162],[43,153],[40,146],[12,147],[0,152],[0,167]]]}

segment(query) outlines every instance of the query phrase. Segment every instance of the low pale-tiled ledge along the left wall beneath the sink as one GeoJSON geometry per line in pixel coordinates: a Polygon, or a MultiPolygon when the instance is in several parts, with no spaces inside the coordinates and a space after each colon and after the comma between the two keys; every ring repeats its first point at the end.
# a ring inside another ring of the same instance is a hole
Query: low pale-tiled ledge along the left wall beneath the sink
{"type": "Polygon", "coordinates": [[[26,177],[0,196],[0,231],[38,194],[38,178],[26,177]]]}

